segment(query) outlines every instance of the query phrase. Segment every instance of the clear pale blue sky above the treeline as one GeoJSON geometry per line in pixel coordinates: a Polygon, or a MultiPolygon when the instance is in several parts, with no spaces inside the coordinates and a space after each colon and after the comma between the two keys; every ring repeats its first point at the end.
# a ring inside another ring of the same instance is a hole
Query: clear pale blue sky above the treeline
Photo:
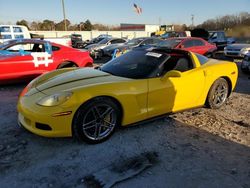
{"type": "MultiPolygon", "coordinates": [[[[250,12],[250,0],[64,0],[66,18],[71,23],[89,19],[91,23],[119,25],[194,24],[227,14],[250,12]],[[133,4],[142,8],[138,15],[133,4]]],[[[17,20],[59,22],[63,20],[62,0],[0,0],[0,24],[17,20]]]]}

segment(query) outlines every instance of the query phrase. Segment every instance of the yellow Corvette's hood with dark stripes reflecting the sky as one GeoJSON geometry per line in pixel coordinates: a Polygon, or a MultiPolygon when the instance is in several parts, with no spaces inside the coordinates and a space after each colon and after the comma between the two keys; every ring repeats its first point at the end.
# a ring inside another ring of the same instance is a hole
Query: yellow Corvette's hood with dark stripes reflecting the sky
{"type": "Polygon", "coordinates": [[[61,69],[40,76],[32,84],[36,90],[44,94],[52,94],[49,90],[55,91],[72,90],[74,88],[91,85],[129,80],[113,76],[109,73],[93,68],[69,68],[61,69]]]}

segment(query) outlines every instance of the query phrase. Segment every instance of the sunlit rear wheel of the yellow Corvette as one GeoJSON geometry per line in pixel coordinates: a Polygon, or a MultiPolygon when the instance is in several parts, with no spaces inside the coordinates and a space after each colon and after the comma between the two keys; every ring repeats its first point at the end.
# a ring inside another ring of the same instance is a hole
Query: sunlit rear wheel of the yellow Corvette
{"type": "Polygon", "coordinates": [[[211,86],[206,105],[212,109],[220,108],[225,102],[229,94],[229,85],[224,78],[217,79],[211,86]]]}

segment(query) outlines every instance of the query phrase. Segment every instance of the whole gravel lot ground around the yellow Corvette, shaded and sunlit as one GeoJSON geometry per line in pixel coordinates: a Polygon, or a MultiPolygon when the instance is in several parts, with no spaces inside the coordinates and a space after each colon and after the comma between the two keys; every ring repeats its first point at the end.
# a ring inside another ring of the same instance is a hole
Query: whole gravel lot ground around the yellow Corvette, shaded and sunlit
{"type": "Polygon", "coordinates": [[[98,145],[43,138],[16,122],[25,84],[0,88],[1,187],[250,187],[250,78],[219,110],[120,128],[98,145]]]}

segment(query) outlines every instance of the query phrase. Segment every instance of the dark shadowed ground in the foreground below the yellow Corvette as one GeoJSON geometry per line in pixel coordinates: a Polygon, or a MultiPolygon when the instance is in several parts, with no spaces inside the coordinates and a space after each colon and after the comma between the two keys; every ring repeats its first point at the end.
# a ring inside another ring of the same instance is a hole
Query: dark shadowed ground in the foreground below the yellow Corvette
{"type": "Polygon", "coordinates": [[[98,145],[10,126],[0,133],[3,187],[250,186],[249,147],[172,118],[119,129],[98,145]]]}

